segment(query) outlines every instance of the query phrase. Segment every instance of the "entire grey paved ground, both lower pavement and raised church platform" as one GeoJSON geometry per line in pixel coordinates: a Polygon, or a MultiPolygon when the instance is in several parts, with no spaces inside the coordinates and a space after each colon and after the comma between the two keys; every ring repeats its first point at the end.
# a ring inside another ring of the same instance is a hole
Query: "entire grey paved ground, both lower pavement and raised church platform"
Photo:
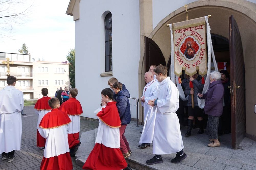
{"type": "MultiPolygon", "coordinates": [[[[0,159],[0,170],[39,170],[40,164],[43,158],[43,150],[40,150],[36,146],[36,124],[38,115],[34,111],[34,106],[24,107],[25,116],[22,116],[22,149],[15,151],[16,158],[13,162],[8,163],[6,160],[0,159]]],[[[98,121],[92,120],[80,120],[80,140],[87,138],[90,142],[91,149],[94,146],[94,138],[96,135],[95,128],[98,128],[98,121]],[[82,132],[91,131],[90,135],[81,136],[82,132]]],[[[181,164],[172,164],[170,160],[175,154],[163,155],[164,162],[162,164],[146,165],[145,161],[152,158],[152,145],[146,149],[140,149],[139,139],[140,131],[143,126],[136,127],[136,122],[132,121],[127,125],[125,136],[129,141],[130,148],[132,150],[131,156],[127,159],[127,162],[137,162],[146,166],[145,169],[177,169],[177,170],[256,170],[256,142],[244,138],[241,142],[241,149],[234,150],[231,148],[231,134],[225,134],[221,136],[221,147],[210,148],[207,147],[208,136],[206,133],[197,135],[198,129],[193,129],[192,136],[186,138],[184,134],[186,127],[181,126],[181,133],[184,143],[184,151],[188,155],[181,164]]],[[[82,156],[84,153],[87,155],[91,149],[83,143],[79,147],[76,156],[82,156]],[[83,152],[82,152],[83,150],[83,152]]],[[[85,162],[87,157],[83,158],[82,164],[85,162]]],[[[73,169],[82,169],[81,165],[76,164],[75,158],[72,158],[73,169]]],[[[139,170],[139,168],[136,168],[139,170]]],[[[140,169],[144,170],[144,169],[140,169]]]]}

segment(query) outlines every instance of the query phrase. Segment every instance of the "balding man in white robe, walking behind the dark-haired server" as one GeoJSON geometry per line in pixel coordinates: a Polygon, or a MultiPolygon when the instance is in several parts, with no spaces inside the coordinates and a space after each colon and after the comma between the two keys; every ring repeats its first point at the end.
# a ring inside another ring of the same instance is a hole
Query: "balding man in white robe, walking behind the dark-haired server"
{"type": "Polygon", "coordinates": [[[150,143],[153,141],[156,109],[148,105],[148,101],[154,100],[154,94],[156,94],[159,85],[159,83],[154,80],[154,74],[151,71],[146,72],[144,77],[147,84],[144,87],[142,97],[140,98],[141,105],[144,107],[144,126],[139,141],[139,143],[142,144],[138,146],[142,149],[150,147],[150,143]]]}

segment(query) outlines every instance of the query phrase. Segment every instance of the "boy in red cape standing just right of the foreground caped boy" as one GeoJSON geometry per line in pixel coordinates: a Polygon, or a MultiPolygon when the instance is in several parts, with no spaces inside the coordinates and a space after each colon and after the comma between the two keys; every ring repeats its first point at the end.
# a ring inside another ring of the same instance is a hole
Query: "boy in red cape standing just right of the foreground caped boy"
{"type": "Polygon", "coordinates": [[[71,119],[71,123],[69,124],[69,132],[68,132],[68,141],[69,141],[69,149],[70,156],[75,157],[75,152],[78,149],[78,146],[81,142],[78,140],[79,131],[80,131],[80,115],[83,113],[82,106],[78,100],[76,100],[76,96],[78,94],[77,88],[71,88],[69,90],[69,100],[62,103],[59,110],[68,114],[71,119]]]}

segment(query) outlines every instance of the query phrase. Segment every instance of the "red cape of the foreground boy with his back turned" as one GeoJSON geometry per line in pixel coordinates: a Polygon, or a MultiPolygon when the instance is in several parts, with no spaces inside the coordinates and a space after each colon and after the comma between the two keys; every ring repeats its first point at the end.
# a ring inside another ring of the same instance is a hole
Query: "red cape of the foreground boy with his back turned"
{"type": "Polygon", "coordinates": [[[44,115],[39,127],[43,129],[58,128],[60,126],[67,125],[71,122],[67,114],[59,111],[57,108],[52,109],[51,112],[44,115]]]}

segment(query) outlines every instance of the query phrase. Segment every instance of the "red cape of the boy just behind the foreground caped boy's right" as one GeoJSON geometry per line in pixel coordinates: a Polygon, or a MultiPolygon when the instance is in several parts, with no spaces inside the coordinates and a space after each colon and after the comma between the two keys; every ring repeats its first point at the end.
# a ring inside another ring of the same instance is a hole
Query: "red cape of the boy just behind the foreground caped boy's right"
{"type": "Polygon", "coordinates": [[[61,104],[59,110],[68,115],[81,115],[83,113],[82,106],[76,98],[69,98],[69,100],[61,104]]]}

